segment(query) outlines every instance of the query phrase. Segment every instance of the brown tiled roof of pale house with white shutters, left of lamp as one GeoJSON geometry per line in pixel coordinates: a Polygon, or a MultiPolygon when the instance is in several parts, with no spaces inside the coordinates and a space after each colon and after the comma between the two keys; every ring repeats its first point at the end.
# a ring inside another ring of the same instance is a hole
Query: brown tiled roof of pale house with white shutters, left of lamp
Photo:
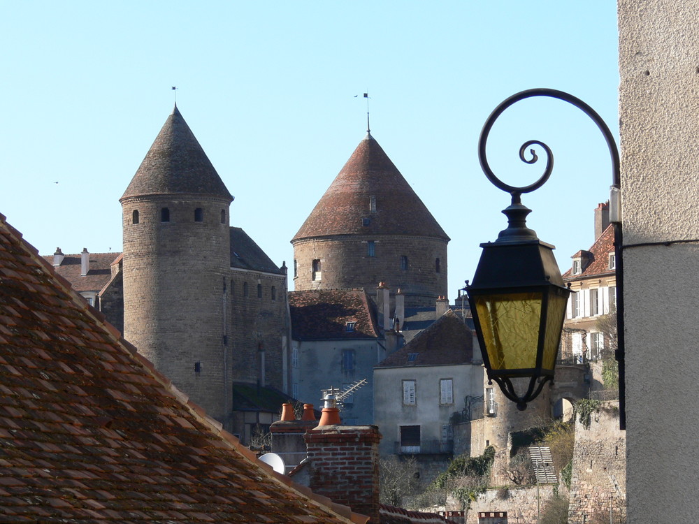
{"type": "Polygon", "coordinates": [[[447,310],[408,344],[390,354],[377,367],[452,365],[473,361],[473,333],[452,310],[447,310]],[[409,360],[410,356],[415,358],[409,360]]]}

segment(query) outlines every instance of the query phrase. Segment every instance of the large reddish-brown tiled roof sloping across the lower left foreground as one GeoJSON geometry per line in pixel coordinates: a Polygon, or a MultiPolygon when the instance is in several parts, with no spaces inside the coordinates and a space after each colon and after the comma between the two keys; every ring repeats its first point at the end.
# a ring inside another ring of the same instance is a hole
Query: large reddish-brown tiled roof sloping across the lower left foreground
{"type": "Polygon", "coordinates": [[[0,521],[350,518],[255,463],[0,215],[0,521]]]}

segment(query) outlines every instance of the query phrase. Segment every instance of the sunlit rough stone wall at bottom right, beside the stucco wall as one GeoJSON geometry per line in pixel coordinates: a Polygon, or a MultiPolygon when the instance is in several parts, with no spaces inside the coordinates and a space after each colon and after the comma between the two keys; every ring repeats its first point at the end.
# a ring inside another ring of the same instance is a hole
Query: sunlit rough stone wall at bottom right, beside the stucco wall
{"type": "Polygon", "coordinates": [[[595,519],[626,522],[626,431],[619,430],[618,402],[594,412],[589,428],[575,421],[568,523],[595,519]]]}

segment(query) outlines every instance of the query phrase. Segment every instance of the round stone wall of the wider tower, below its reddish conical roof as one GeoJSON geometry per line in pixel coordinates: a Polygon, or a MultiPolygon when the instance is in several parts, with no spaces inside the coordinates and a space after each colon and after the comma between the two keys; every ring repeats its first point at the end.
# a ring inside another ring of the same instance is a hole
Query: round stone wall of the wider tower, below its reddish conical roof
{"type": "Polygon", "coordinates": [[[379,282],[405,294],[405,306],[433,306],[447,296],[447,241],[408,235],[336,235],[294,242],[294,289],[363,287],[373,295],[379,282]],[[368,242],[374,242],[369,254],[368,242]],[[404,259],[407,257],[407,266],[404,259]],[[313,279],[313,261],[321,277],[313,279]],[[439,263],[437,263],[439,260],[439,263]],[[404,268],[405,267],[405,268],[404,268]]]}

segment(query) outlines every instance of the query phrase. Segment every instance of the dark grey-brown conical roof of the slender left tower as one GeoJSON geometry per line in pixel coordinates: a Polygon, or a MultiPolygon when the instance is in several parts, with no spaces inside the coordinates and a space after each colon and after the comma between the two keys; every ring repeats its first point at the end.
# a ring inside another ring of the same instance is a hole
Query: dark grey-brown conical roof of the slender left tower
{"type": "Polygon", "coordinates": [[[233,200],[177,105],[122,196],[201,194],[233,200]]]}

